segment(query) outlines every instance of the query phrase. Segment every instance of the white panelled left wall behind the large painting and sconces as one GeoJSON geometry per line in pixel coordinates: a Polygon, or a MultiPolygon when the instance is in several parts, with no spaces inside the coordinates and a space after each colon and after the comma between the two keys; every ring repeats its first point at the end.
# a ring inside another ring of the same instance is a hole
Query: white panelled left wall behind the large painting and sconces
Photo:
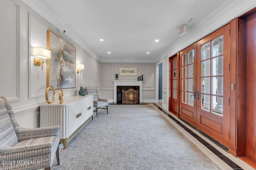
{"type": "MultiPolygon", "coordinates": [[[[46,102],[47,62],[41,70],[40,66],[34,65],[31,52],[32,47],[37,46],[47,49],[48,29],[76,47],[76,63],[85,65],[82,76],[76,74],[76,88],[63,89],[64,101],[66,97],[78,94],[80,84],[100,86],[100,62],[64,33],[58,33],[54,25],[22,1],[1,0],[0,23],[0,96],[9,100],[22,127],[40,127],[39,106],[46,102]]],[[[56,90],[56,96],[58,92],[56,90]]],[[[58,103],[57,97],[55,102],[58,103]]]]}

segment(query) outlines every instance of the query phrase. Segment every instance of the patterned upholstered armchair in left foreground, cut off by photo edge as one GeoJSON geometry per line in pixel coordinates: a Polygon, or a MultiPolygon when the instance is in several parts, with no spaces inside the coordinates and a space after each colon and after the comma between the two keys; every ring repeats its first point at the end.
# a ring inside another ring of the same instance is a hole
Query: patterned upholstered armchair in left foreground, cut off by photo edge
{"type": "Polygon", "coordinates": [[[50,170],[59,159],[60,126],[22,128],[8,100],[0,97],[0,169],[50,170]]]}

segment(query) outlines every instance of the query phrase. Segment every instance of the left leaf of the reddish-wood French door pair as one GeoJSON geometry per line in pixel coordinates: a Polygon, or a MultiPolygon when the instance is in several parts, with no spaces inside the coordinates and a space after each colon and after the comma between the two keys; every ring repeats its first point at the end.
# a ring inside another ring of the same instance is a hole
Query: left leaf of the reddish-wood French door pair
{"type": "Polygon", "coordinates": [[[196,127],[196,43],[180,52],[179,117],[196,127]]]}

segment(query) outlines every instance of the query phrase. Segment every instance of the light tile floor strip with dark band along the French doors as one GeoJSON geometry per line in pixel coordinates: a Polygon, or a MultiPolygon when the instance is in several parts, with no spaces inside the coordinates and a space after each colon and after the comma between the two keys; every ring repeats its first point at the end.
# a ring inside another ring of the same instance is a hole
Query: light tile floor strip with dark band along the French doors
{"type": "Polygon", "coordinates": [[[162,103],[150,104],[158,110],[170,123],[172,123],[179,131],[181,131],[192,143],[194,143],[206,156],[212,159],[223,170],[254,170],[246,162],[240,158],[236,158],[229,154],[226,150],[218,146],[216,143],[202,135],[196,129],[190,127],[182,120],[178,119],[170,111],[162,107],[162,103]]]}

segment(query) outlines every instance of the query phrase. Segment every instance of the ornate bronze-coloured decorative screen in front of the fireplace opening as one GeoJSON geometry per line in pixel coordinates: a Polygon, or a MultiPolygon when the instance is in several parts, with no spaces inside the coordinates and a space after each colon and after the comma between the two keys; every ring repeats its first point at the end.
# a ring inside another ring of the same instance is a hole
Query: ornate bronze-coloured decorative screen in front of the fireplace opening
{"type": "Polygon", "coordinates": [[[122,104],[138,104],[139,90],[132,88],[128,90],[122,89],[122,104]]]}

